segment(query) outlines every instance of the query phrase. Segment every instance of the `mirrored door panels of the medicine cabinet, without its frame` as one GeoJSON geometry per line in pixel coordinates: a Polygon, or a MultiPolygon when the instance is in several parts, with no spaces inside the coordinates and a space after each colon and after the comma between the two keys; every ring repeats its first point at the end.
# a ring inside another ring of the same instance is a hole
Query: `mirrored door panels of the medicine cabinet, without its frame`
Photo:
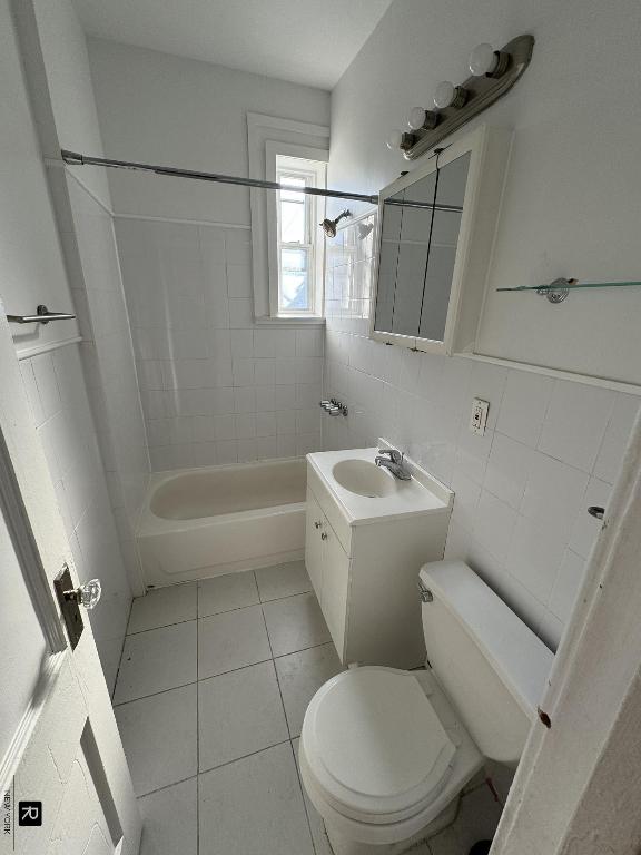
{"type": "Polygon", "coordinates": [[[444,342],[470,159],[434,163],[381,194],[374,333],[444,342]]]}

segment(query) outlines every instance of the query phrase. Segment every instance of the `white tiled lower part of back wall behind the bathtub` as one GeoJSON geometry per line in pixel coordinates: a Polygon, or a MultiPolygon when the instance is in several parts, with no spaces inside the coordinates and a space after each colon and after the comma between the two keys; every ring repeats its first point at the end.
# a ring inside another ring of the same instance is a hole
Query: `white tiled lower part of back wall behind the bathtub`
{"type": "Polygon", "coordinates": [[[318,450],[324,331],[254,323],[249,232],[116,232],[152,469],[318,450]]]}

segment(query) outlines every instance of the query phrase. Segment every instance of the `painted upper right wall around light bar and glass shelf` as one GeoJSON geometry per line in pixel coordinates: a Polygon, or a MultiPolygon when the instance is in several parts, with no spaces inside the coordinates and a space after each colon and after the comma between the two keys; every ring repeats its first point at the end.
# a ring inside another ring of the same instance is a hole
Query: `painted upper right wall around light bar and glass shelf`
{"type": "Polygon", "coordinates": [[[495,292],[641,278],[640,27],[635,0],[397,0],[333,92],[331,185],[377,193],[412,168],[385,147],[411,107],[428,106],[440,80],[465,79],[476,43],[535,37],[522,80],[475,120],[515,129],[481,353],[641,381],[641,288],[562,306],[495,292]]]}

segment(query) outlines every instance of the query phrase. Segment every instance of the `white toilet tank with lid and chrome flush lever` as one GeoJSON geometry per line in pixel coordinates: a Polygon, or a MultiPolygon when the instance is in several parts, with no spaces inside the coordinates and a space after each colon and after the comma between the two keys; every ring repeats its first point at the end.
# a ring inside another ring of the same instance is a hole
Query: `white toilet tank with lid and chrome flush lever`
{"type": "Polygon", "coordinates": [[[516,765],[553,655],[462,561],[421,570],[423,631],[436,679],[485,757],[516,765]]]}

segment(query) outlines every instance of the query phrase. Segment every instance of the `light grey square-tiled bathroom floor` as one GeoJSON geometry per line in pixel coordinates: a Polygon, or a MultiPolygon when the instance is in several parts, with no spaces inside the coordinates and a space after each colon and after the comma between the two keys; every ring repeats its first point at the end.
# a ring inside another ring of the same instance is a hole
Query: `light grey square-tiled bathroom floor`
{"type": "MultiPolygon", "coordinates": [[[[316,689],[341,670],[303,562],[134,601],[114,702],[145,819],[140,855],[331,855],[297,768],[316,689]]],[[[466,855],[486,787],[415,855],[466,855]]]]}

